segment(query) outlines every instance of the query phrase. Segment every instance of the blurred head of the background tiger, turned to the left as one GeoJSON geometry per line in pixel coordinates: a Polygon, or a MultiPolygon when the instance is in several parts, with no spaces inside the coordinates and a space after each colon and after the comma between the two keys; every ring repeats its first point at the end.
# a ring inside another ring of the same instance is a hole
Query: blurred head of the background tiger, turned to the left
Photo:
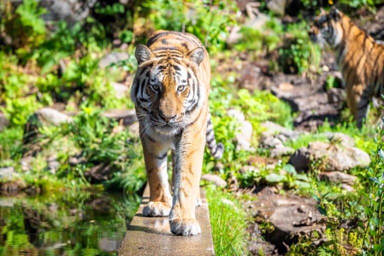
{"type": "Polygon", "coordinates": [[[320,14],[313,20],[308,34],[312,42],[318,43],[321,48],[326,45],[336,48],[343,38],[341,19],[343,14],[336,8],[329,13],[321,8],[320,14]]]}

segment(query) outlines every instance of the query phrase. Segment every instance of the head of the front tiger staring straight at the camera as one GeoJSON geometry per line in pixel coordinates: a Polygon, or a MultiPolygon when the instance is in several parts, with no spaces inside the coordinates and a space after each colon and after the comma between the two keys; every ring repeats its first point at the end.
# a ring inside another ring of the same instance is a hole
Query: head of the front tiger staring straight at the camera
{"type": "Polygon", "coordinates": [[[145,45],[135,50],[137,72],[131,98],[145,130],[177,134],[194,121],[195,110],[205,100],[198,80],[198,66],[204,50],[197,47],[187,54],[177,49],[152,52],[145,45]]]}

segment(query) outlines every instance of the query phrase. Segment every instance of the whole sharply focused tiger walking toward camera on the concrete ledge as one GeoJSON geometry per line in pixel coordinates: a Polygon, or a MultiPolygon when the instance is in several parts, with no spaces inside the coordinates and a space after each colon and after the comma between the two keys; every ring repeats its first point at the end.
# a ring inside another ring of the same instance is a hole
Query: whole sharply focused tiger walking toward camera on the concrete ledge
{"type": "Polygon", "coordinates": [[[130,95],[135,104],[149,182],[144,216],[169,214],[175,234],[201,232],[195,218],[204,147],[220,158],[208,107],[208,52],[192,34],[156,31],[136,47],[138,67],[130,95]],[[172,150],[173,199],[169,193],[167,151],[172,150]]]}

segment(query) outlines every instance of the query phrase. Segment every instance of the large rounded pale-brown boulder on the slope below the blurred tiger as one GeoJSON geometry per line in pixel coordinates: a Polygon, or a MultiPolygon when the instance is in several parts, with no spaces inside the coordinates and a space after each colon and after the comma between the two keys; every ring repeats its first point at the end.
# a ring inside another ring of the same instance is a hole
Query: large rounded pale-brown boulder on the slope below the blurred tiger
{"type": "Polygon", "coordinates": [[[355,166],[366,166],[370,163],[369,154],[365,151],[339,143],[321,141],[310,142],[307,147],[297,149],[289,158],[297,171],[309,168],[309,159],[322,161],[323,171],[349,170],[355,166]]]}

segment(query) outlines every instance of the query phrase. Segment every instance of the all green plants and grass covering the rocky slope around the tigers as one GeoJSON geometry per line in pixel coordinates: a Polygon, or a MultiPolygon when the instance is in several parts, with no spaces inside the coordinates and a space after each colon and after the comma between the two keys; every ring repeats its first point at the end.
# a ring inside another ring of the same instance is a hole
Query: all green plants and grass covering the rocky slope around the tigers
{"type": "MultiPolygon", "coordinates": [[[[91,15],[74,25],[64,21],[45,22],[41,15],[46,10],[35,0],[23,0],[17,7],[10,0],[1,1],[0,109],[9,125],[0,132],[0,167],[14,167],[13,180],[21,180],[41,193],[90,188],[137,193],[146,181],[139,141],[127,129],[112,132],[119,124],[101,117],[100,113],[111,108],[133,108],[128,97],[115,96],[110,83],[134,74],[136,44],[145,43],[148,35],[156,29],[185,30],[199,37],[210,53],[213,72],[209,104],[216,138],[225,145],[221,160],[223,167],[213,170],[215,161],[206,153],[203,172],[214,171],[224,179],[234,175],[241,188],[253,184],[280,184],[285,190],[314,196],[328,219],[328,240],[317,247],[311,246],[309,240],[302,240],[291,246],[291,255],[382,255],[382,131],[374,127],[358,130],[349,121],[347,110],[338,125],[325,124],[319,131],[345,132],[355,139],[359,148],[370,153],[371,166],[351,170],[360,180],[356,192],[346,193],[338,186],[319,181],[320,163],[313,163],[307,175],[295,173],[285,158],[279,161],[272,173],[265,167],[257,173],[238,171],[251,154],[269,154],[257,147],[261,132],[259,123],[272,120],[291,128],[294,113],[286,103],[267,91],[250,93],[237,89],[238,74],[219,74],[215,67],[231,56],[235,56],[234,61],[239,61],[238,54],[234,53],[246,52],[249,59],[257,59],[261,53],[275,51],[278,58],[270,61],[271,70],[308,77],[311,73],[320,72],[321,51],[309,41],[306,32],[309,20],[302,13],[316,13],[320,5],[329,8],[333,2],[297,2],[300,7],[298,21],[285,24],[261,1],[259,9],[269,15],[265,26],[242,28],[243,39],[229,47],[225,43],[228,27],[244,22],[238,15],[235,1],[132,0],[121,4],[100,0],[91,15]],[[123,51],[129,57],[104,69],[99,68],[98,62],[105,54],[118,50],[113,46],[113,39],[126,43],[127,48],[123,51]],[[286,43],[281,44],[282,41],[286,43]],[[65,69],[60,68],[60,61],[65,63],[65,69]],[[39,136],[24,145],[23,128],[28,117],[38,108],[57,103],[63,103],[66,111],[76,112],[73,122],[40,127],[39,136]],[[256,152],[236,150],[234,133],[237,123],[226,115],[229,108],[242,110],[251,121],[255,130],[252,144],[256,152]],[[75,154],[87,161],[69,165],[68,158],[75,154]],[[32,155],[33,161],[31,167],[23,171],[20,160],[25,155],[32,155]],[[55,155],[60,163],[55,173],[46,168],[46,159],[50,155],[55,155]],[[112,163],[111,178],[100,184],[91,184],[83,173],[103,162],[112,163]],[[285,174],[280,174],[282,168],[286,170],[285,174]],[[344,230],[339,226],[340,222],[348,219],[355,219],[357,227],[344,230]]],[[[340,0],[338,3],[351,11],[364,6],[374,11],[376,4],[382,1],[340,0]]],[[[329,77],[327,83],[334,86],[334,79],[329,77]]],[[[325,138],[314,133],[288,141],[287,145],[297,149],[315,139],[325,138]]],[[[252,220],[247,219],[241,205],[237,205],[236,201],[242,198],[212,185],[206,189],[216,254],[246,254],[248,241],[244,229],[246,221],[252,220]],[[235,201],[237,206],[228,207],[222,200],[224,198],[235,201]],[[222,210],[229,212],[224,219],[219,214],[222,210]]]]}

